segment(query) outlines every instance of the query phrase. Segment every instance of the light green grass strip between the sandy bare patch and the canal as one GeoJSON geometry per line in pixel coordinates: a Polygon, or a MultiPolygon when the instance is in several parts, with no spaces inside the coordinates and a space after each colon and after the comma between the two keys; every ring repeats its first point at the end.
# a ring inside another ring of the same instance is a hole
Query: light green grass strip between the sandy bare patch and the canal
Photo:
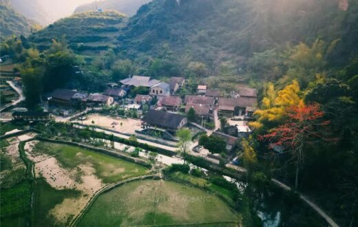
{"type": "Polygon", "coordinates": [[[92,164],[96,176],[104,183],[114,183],[148,172],[143,166],[69,145],[39,142],[34,152],[56,155],[56,159],[66,169],[74,169],[80,164],[92,164]]]}

